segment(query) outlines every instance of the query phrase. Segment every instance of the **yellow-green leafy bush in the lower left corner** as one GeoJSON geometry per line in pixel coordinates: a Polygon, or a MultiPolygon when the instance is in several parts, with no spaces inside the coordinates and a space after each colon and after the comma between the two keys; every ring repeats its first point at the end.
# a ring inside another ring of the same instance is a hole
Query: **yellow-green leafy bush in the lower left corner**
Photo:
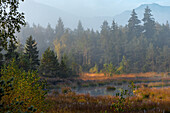
{"type": "Polygon", "coordinates": [[[11,77],[14,78],[13,88],[9,92],[9,95],[3,96],[1,102],[11,103],[15,98],[17,101],[23,101],[24,105],[22,110],[26,110],[33,105],[37,108],[37,112],[44,109],[45,94],[43,86],[40,85],[40,78],[36,72],[25,72],[18,68],[15,62],[11,62],[8,66],[5,66],[1,70],[1,80],[7,81],[11,77]]]}

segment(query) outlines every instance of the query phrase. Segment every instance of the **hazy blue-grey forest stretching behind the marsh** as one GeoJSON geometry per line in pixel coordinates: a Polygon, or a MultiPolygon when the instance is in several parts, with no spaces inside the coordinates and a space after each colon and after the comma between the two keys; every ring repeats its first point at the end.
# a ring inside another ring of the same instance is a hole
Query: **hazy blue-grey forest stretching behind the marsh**
{"type": "Polygon", "coordinates": [[[142,20],[133,10],[124,27],[115,21],[111,25],[104,21],[100,31],[85,30],[79,21],[77,28],[71,30],[64,28],[60,18],[55,29],[50,24],[47,28],[27,25],[18,34],[20,41],[30,34],[38,42],[40,55],[48,47],[56,52],[59,61],[66,54],[67,65],[77,73],[96,67],[95,72],[104,72],[110,64],[112,71],[118,73],[170,71],[170,25],[155,22],[149,7],[142,20]]]}

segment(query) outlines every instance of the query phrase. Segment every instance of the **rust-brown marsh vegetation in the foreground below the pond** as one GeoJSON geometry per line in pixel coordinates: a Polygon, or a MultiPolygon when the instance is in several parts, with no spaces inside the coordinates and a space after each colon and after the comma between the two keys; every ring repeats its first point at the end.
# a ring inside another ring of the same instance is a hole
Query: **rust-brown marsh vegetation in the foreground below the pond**
{"type": "MultiPolygon", "coordinates": [[[[150,89],[140,88],[134,91],[135,96],[128,97],[121,104],[124,112],[129,113],[162,113],[170,112],[170,88],[150,89]]],[[[120,97],[97,96],[89,94],[67,94],[49,95],[48,101],[52,105],[50,113],[113,113],[116,112],[114,103],[119,103],[120,97]]]]}

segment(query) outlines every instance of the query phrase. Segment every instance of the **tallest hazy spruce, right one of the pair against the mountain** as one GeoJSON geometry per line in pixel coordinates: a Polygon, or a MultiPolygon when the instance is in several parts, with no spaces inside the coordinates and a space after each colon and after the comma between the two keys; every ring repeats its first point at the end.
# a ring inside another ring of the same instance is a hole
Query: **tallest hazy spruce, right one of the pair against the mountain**
{"type": "Polygon", "coordinates": [[[144,13],[144,18],[142,21],[144,22],[143,30],[146,38],[153,38],[155,33],[155,21],[152,18],[151,9],[147,6],[144,13]]]}

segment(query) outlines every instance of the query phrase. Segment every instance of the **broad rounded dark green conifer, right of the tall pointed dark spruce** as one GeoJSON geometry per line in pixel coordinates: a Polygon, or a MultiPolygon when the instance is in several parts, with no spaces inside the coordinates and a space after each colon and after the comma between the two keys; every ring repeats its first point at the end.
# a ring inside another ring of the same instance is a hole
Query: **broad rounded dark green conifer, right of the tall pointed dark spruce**
{"type": "Polygon", "coordinates": [[[42,55],[39,72],[42,76],[58,77],[59,76],[59,63],[54,51],[47,48],[42,55]]]}

